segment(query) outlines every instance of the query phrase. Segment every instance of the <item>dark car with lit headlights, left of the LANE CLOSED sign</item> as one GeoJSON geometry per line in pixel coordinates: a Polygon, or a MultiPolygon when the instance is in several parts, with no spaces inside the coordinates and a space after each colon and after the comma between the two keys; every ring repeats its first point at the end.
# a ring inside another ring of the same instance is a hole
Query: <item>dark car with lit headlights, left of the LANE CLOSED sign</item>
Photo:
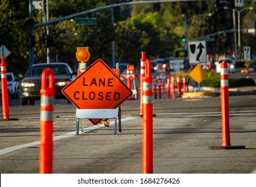
{"type": "Polygon", "coordinates": [[[41,73],[47,67],[54,73],[55,98],[67,99],[61,89],[76,77],[76,72],[73,72],[68,63],[37,63],[29,67],[21,81],[21,106],[33,105],[35,100],[40,99],[41,73]]]}

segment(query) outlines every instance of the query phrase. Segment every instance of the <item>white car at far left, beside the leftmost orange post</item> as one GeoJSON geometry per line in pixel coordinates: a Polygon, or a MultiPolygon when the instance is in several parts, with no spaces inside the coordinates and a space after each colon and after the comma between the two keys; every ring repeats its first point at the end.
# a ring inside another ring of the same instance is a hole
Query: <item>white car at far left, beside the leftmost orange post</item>
{"type": "MultiPolygon", "coordinates": [[[[8,96],[11,96],[11,99],[19,98],[19,83],[15,79],[12,72],[7,72],[7,87],[8,87],[8,96]]],[[[1,91],[1,81],[0,81],[0,94],[1,91]]]]}

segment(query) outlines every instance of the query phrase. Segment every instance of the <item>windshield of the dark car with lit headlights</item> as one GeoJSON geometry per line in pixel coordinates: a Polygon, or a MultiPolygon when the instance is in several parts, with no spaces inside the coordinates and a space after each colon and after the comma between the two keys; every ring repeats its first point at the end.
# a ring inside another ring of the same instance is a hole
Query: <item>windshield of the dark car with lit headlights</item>
{"type": "Polygon", "coordinates": [[[41,73],[45,68],[51,68],[55,75],[70,75],[68,67],[66,65],[36,65],[29,68],[26,77],[41,76],[41,73]]]}

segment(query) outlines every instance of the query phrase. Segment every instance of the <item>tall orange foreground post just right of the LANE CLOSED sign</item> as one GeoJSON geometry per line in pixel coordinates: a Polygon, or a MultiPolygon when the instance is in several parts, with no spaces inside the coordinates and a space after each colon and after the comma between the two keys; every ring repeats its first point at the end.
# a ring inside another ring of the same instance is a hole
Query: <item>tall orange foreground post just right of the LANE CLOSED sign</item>
{"type": "Polygon", "coordinates": [[[143,142],[142,142],[142,172],[153,173],[153,104],[150,61],[146,59],[146,73],[143,77],[143,142]]]}

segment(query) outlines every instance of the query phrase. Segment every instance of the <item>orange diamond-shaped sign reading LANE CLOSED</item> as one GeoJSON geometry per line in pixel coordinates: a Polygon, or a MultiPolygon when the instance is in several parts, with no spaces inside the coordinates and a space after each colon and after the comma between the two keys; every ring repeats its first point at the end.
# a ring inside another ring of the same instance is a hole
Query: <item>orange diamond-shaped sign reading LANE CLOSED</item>
{"type": "MultiPolygon", "coordinates": [[[[63,87],[62,93],[79,109],[114,109],[127,100],[132,91],[102,59],[98,59],[63,87]]],[[[98,124],[101,120],[90,121],[98,124]]]]}

